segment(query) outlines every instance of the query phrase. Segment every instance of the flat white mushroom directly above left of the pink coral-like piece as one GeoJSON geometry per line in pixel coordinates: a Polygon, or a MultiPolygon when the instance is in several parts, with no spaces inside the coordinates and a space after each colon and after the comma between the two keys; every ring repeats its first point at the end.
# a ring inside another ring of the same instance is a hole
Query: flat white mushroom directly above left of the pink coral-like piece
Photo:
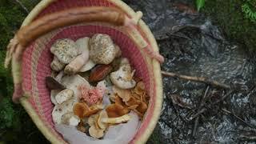
{"type": "Polygon", "coordinates": [[[66,86],[66,88],[74,91],[74,98],[78,98],[78,86],[83,85],[90,87],[90,83],[78,74],[64,76],[61,83],[66,86]]]}

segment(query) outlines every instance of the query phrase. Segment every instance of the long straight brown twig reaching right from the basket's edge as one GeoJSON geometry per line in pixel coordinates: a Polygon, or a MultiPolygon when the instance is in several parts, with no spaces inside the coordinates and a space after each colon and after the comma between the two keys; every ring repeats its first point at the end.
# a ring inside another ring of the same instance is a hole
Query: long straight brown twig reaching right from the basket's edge
{"type": "Polygon", "coordinates": [[[174,78],[181,78],[181,79],[186,79],[189,81],[194,81],[194,82],[204,82],[208,85],[211,86],[217,86],[217,87],[221,87],[224,89],[230,89],[230,86],[224,84],[224,83],[220,83],[214,80],[210,80],[209,78],[204,78],[204,77],[191,77],[191,76],[187,76],[187,75],[182,75],[182,74],[175,74],[175,73],[171,73],[171,72],[166,72],[166,71],[162,71],[161,72],[162,75],[164,76],[168,76],[168,77],[174,77],[174,78]]]}

